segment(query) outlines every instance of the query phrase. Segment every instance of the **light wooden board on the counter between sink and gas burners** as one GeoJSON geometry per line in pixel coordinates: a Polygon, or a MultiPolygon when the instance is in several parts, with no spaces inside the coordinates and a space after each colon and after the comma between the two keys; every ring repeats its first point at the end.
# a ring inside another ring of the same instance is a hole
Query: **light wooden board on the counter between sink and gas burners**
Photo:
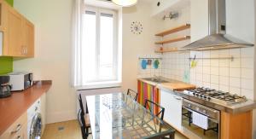
{"type": "Polygon", "coordinates": [[[162,87],[171,89],[171,90],[190,90],[195,89],[195,85],[193,84],[186,84],[183,82],[174,82],[174,83],[163,83],[160,84],[162,87]]]}

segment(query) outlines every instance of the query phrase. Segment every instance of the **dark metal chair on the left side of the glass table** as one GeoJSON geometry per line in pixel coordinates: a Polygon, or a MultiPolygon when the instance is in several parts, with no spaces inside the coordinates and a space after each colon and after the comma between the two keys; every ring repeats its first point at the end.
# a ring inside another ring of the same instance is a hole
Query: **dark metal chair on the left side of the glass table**
{"type": "Polygon", "coordinates": [[[86,103],[86,111],[84,113],[84,106],[83,106],[83,101],[82,101],[82,97],[81,94],[79,94],[79,106],[80,106],[80,110],[81,113],[83,114],[84,117],[84,130],[85,130],[85,135],[88,136],[89,134],[89,128],[90,128],[90,118],[89,118],[89,113],[88,113],[88,108],[87,108],[87,103],[86,103]]]}

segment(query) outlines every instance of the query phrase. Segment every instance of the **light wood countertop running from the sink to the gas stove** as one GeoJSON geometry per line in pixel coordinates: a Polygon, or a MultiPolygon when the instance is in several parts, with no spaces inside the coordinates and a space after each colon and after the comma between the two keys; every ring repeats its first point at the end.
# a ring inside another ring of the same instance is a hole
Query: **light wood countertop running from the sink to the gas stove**
{"type": "Polygon", "coordinates": [[[164,87],[168,90],[189,90],[189,89],[195,89],[195,87],[196,87],[194,84],[187,84],[187,83],[184,83],[182,81],[177,81],[175,79],[170,79],[170,78],[162,78],[162,79],[167,81],[165,83],[157,83],[157,82],[154,82],[154,81],[146,80],[144,78],[137,78],[137,79],[144,82],[144,83],[154,85],[157,88],[163,88],[164,87]]]}

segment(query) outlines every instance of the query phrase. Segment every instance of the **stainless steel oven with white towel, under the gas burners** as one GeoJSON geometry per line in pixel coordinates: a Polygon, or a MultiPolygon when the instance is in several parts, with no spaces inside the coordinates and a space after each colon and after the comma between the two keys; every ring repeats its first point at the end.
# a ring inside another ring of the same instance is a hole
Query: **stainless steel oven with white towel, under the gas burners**
{"type": "Polygon", "coordinates": [[[183,99],[182,125],[203,139],[220,138],[220,112],[194,101],[183,99]]]}

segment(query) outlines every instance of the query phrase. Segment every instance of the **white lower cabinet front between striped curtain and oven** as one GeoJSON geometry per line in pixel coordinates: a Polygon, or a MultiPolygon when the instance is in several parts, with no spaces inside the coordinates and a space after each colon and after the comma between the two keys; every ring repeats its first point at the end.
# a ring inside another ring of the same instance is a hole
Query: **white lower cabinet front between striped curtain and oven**
{"type": "Polygon", "coordinates": [[[160,105],[165,107],[164,120],[177,130],[182,130],[182,97],[171,90],[160,90],[160,105]]]}

